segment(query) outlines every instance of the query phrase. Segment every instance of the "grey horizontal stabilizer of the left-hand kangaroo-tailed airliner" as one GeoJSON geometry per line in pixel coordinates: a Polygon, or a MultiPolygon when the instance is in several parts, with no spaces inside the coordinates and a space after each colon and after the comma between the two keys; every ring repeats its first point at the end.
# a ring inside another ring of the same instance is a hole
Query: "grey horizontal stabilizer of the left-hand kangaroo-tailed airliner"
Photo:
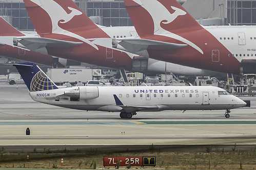
{"type": "Polygon", "coordinates": [[[67,48],[80,45],[83,42],[64,41],[43,37],[17,37],[14,45],[17,45],[17,43],[21,43],[29,50],[36,51],[44,47],[67,48]]]}

